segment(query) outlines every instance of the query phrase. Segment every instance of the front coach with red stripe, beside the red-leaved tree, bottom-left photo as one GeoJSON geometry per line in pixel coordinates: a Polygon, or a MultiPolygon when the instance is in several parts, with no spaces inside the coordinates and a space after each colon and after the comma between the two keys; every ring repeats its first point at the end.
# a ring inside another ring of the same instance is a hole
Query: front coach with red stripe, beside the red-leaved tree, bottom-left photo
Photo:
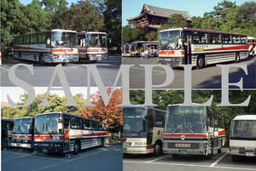
{"type": "Polygon", "coordinates": [[[103,146],[107,139],[103,123],[64,112],[35,116],[34,149],[39,153],[77,153],[103,146]]]}

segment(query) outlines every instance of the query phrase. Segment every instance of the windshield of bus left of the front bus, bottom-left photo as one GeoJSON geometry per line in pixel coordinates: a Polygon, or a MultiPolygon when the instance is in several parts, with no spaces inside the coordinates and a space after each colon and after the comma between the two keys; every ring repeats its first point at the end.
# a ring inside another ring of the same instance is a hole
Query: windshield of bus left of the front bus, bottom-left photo
{"type": "Polygon", "coordinates": [[[15,119],[13,134],[32,134],[32,118],[15,119]]]}

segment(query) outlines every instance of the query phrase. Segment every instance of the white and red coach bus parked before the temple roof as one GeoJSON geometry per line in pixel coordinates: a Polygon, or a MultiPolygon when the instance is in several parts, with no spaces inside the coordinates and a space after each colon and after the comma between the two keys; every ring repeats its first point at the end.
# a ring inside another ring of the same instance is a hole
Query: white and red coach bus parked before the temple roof
{"type": "Polygon", "coordinates": [[[247,35],[176,28],[160,31],[159,62],[170,66],[210,64],[247,58],[247,35]]]}

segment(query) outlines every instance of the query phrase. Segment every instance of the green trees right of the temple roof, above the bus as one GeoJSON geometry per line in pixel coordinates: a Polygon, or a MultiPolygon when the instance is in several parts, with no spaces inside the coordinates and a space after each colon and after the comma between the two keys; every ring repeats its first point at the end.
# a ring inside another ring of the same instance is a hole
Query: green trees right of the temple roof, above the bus
{"type": "Polygon", "coordinates": [[[229,31],[256,37],[256,2],[242,3],[224,0],[203,17],[192,17],[191,26],[197,29],[229,31]]]}

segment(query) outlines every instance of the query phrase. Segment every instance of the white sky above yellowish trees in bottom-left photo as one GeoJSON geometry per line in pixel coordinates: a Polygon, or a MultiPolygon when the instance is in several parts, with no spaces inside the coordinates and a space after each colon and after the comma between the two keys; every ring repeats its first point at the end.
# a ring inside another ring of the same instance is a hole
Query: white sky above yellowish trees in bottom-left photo
{"type": "MultiPolygon", "coordinates": [[[[44,94],[47,92],[48,87],[35,87],[35,93],[37,94],[44,94]]],[[[75,94],[83,94],[84,98],[86,99],[87,95],[87,87],[71,87],[71,93],[74,96],[75,94]]],[[[96,87],[90,88],[90,94],[95,94],[97,92],[96,87]]],[[[20,94],[24,94],[25,91],[22,88],[19,87],[2,87],[1,88],[1,100],[2,102],[8,102],[7,100],[7,94],[9,94],[9,97],[17,103],[20,101],[20,94]]],[[[59,91],[50,91],[50,94],[58,94],[59,96],[64,96],[64,92],[59,90],[59,91]]]]}

